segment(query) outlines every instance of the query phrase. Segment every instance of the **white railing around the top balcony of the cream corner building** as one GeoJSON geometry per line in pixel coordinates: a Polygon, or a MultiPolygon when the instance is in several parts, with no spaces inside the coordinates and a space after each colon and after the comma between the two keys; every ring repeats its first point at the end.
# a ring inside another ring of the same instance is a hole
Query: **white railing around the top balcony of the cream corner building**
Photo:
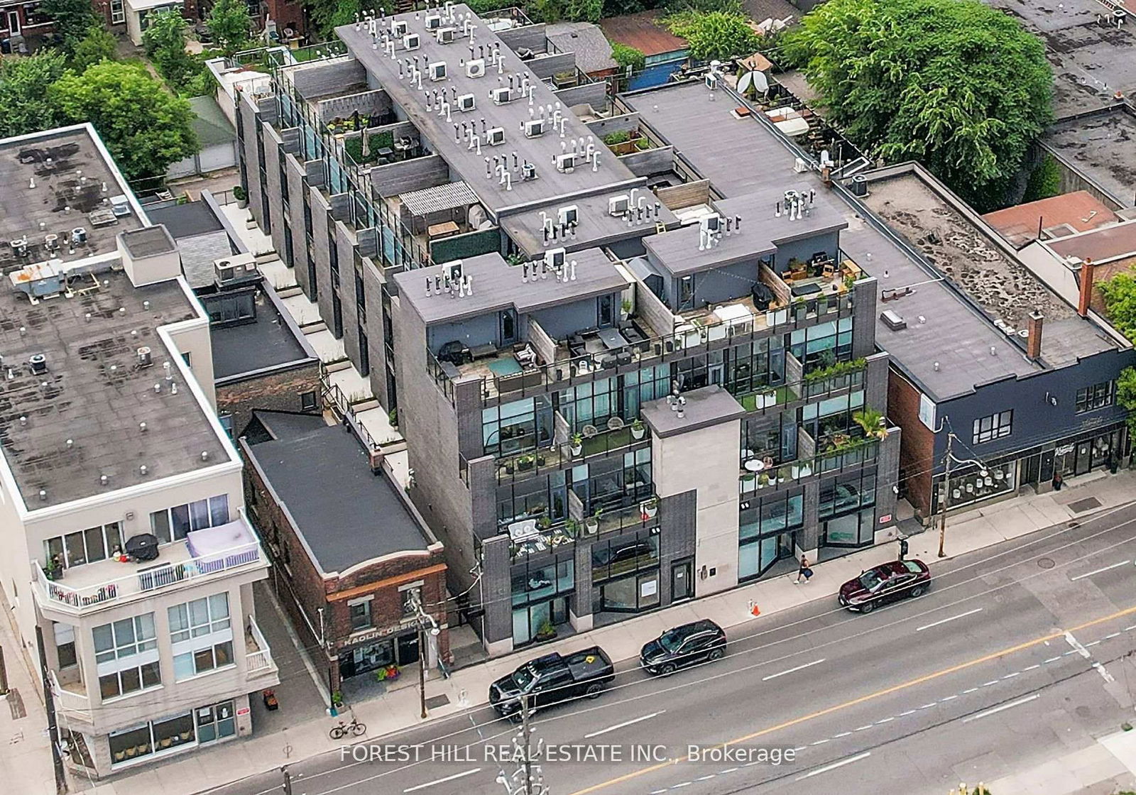
{"type": "Polygon", "coordinates": [[[49,579],[39,561],[35,561],[33,574],[48,606],[78,612],[261,561],[260,544],[254,541],[200,556],[190,555],[185,542],[179,542],[162,546],[161,553],[167,560],[139,563],[102,561],[67,569],[67,579],[75,580],[70,584],[49,579]],[[108,579],[99,577],[112,567],[130,567],[133,572],[108,579]],[[90,581],[92,579],[97,581],[90,581]]]}

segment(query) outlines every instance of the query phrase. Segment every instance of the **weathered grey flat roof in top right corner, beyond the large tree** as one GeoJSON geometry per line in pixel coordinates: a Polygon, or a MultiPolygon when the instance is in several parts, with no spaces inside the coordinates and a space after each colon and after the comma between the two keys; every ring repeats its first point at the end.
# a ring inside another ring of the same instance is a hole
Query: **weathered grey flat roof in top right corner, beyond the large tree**
{"type": "MultiPolygon", "coordinates": [[[[1109,9],[1097,0],[986,0],[1038,34],[1053,65],[1059,118],[1109,104],[1118,89],[1136,92],[1131,18],[1120,28],[1101,25],[1109,9]]],[[[1131,3],[1128,3],[1129,15],[1131,3]]]]}

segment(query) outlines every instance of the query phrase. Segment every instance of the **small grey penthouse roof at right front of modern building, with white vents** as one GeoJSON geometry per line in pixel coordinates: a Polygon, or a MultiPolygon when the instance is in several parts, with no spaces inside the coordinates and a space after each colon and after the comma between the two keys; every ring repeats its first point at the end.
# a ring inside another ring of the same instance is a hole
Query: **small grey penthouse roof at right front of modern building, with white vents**
{"type": "Polygon", "coordinates": [[[692,274],[757,260],[776,252],[778,244],[847,227],[844,216],[826,202],[813,202],[809,215],[800,219],[790,220],[784,209],[780,217],[777,216],[776,206],[783,200],[785,191],[796,190],[808,198],[812,190],[816,196],[816,183],[794,184],[788,181],[755,187],[759,189],[755,193],[715,202],[722,217],[742,218],[741,234],[722,236],[715,248],[699,250],[700,232],[696,224],[646,237],[643,245],[671,274],[692,274]]]}

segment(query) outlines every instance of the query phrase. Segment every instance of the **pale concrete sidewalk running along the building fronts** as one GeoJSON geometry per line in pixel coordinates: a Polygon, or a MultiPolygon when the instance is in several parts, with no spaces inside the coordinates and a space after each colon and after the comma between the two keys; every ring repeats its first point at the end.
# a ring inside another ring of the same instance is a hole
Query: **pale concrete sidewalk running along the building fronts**
{"type": "MultiPolygon", "coordinates": [[[[1089,475],[1067,485],[1061,492],[1041,495],[1030,493],[952,516],[947,524],[949,556],[943,560],[1060,525],[1070,519],[1088,518],[1127,502],[1136,495],[1134,471],[1126,470],[1116,476],[1089,475]]],[[[937,549],[938,533],[933,529],[910,538],[909,556],[920,558],[934,568],[941,562],[936,556],[937,549]]],[[[795,585],[793,583],[795,572],[759,580],[729,592],[580,633],[563,639],[557,647],[571,650],[599,644],[613,660],[626,660],[636,656],[646,639],[667,627],[687,620],[710,618],[728,630],[730,627],[750,621],[761,621],[780,610],[812,600],[830,600],[842,583],[868,567],[894,560],[895,553],[894,544],[883,544],[818,563],[816,576],[808,585],[795,585]],[[760,608],[760,617],[750,614],[751,600],[760,608]]],[[[484,704],[490,683],[511,672],[521,662],[549,651],[549,646],[526,648],[458,670],[450,679],[441,679],[436,671],[432,671],[432,678],[426,684],[427,696],[444,695],[449,703],[432,709],[429,719],[458,714],[469,706],[484,704]]],[[[416,684],[414,677],[407,677],[407,681],[400,683],[399,687],[353,705],[354,714],[367,723],[368,737],[382,737],[424,722],[419,719],[416,684]]],[[[42,720],[33,722],[36,727],[43,726],[42,720]]],[[[94,792],[99,795],[189,795],[201,792],[339,747],[339,743],[333,743],[327,736],[331,725],[331,719],[325,716],[296,716],[287,728],[279,731],[256,735],[247,740],[225,743],[217,748],[175,758],[164,764],[116,778],[100,785],[94,792]]],[[[30,777],[28,786],[20,787],[19,792],[43,792],[44,786],[50,788],[50,759],[45,760],[45,764],[30,764],[26,768],[10,764],[7,770],[14,777],[7,780],[24,780],[25,777],[30,777]],[[47,770],[48,775],[47,785],[42,780],[43,770],[47,770]]],[[[90,790],[86,781],[76,780],[74,784],[76,790],[90,790]]]]}

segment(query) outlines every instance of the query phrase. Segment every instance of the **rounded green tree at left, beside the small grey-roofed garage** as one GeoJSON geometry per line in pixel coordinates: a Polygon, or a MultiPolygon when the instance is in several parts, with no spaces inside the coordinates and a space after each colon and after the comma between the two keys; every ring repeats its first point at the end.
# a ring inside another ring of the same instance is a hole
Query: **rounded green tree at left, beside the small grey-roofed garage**
{"type": "Polygon", "coordinates": [[[144,67],[103,61],[68,72],[48,89],[62,120],[90,122],[127,179],[160,176],[198,151],[189,101],[169,94],[144,67]]]}

